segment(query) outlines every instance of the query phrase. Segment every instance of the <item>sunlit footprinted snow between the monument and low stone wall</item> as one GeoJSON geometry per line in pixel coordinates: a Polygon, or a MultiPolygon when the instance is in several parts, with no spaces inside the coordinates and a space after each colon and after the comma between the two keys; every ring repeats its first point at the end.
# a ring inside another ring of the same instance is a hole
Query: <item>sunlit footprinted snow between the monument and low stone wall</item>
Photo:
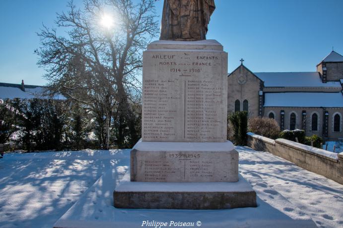
{"type": "MultiPolygon", "coordinates": [[[[343,185],[304,170],[269,152],[237,147],[239,172],[246,179],[259,177],[262,187],[275,191],[312,217],[320,228],[343,227],[343,185]]],[[[254,187],[254,183],[252,183],[254,187]]],[[[271,199],[273,200],[273,192],[271,199]]],[[[293,208],[284,208],[292,211],[293,208]]]]}

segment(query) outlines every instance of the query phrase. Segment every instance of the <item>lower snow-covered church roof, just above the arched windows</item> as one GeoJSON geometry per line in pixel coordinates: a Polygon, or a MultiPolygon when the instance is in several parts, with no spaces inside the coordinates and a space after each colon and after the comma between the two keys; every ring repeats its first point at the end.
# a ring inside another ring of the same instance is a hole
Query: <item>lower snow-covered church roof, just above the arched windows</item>
{"type": "Polygon", "coordinates": [[[265,107],[343,107],[341,92],[265,93],[265,107]]]}

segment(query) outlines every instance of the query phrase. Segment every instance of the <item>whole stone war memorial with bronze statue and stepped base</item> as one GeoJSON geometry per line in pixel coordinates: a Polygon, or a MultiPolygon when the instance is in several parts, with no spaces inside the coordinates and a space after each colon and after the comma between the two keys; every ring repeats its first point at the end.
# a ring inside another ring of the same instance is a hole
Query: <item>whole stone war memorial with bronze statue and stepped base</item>
{"type": "Polygon", "coordinates": [[[214,0],[165,0],[160,40],[143,52],[142,138],[117,208],[256,207],[227,141],[227,53],[206,40],[214,0]]]}

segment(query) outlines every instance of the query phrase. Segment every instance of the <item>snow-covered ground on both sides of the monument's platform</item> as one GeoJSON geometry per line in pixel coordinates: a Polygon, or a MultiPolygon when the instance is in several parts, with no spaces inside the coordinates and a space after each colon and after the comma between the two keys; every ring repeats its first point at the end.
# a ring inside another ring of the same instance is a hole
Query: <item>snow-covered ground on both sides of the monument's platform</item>
{"type": "MultiPolygon", "coordinates": [[[[343,185],[268,152],[236,149],[240,173],[258,196],[265,194],[261,199],[288,215],[307,214],[318,227],[343,227],[343,185]],[[277,205],[282,196],[294,207],[277,205]]],[[[0,160],[0,228],[52,228],[109,168],[118,182],[130,165],[129,151],[5,154],[0,160]]]]}

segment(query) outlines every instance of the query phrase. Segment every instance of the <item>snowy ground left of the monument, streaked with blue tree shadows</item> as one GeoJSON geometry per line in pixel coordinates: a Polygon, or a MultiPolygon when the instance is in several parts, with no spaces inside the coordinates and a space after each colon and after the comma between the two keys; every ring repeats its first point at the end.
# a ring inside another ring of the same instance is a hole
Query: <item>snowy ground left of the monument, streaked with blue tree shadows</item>
{"type": "Polygon", "coordinates": [[[0,228],[52,228],[106,170],[130,163],[127,153],[123,156],[128,151],[5,154],[0,160],[0,228]]]}

